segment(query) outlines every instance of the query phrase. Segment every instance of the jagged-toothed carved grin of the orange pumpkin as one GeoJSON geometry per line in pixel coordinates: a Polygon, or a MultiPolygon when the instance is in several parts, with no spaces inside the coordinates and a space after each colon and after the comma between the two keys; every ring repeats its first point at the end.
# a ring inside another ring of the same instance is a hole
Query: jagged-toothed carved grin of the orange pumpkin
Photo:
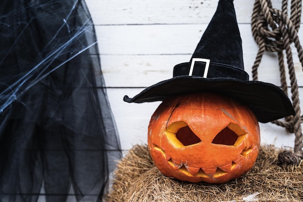
{"type": "Polygon", "coordinates": [[[167,163],[171,167],[173,167],[177,171],[181,171],[183,174],[187,176],[217,178],[222,175],[228,174],[228,172],[232,171],[242,159],[247,158],[248,154],[252,151],[252,146],[245,147],[238,159],[231,161],[231,163],[225,166],[221,166],[217,168],[197,168],[197,167],[188,166],[187,161],[185,161],[185,163],[182,161],[181,162],[176,161],[175,159],[167,155],[161,147],[154,145],[154,149],[155,151],[158,151],[163,155],[163,158],[166,159],[167,163]]]}

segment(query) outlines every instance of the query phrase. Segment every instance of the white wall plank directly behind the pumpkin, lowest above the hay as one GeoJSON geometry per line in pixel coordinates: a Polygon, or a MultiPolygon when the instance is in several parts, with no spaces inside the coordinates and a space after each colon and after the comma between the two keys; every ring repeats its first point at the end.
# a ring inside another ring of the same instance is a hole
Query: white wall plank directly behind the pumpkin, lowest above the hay
{"type": "MultiPolygon", "coordinates": [[[[161,102],[152,103],[126,103],[125,94],[137,94],[143,88],[137,89],[107,89],[108,100],[111,104],[118,132],[120,134],[121,147],[123,150],[132,148],[135,144],[147,143],[147,129],[154,110],[161,102]]],[[[303,99],[303,89],[300,89],[300,99],[303,99]]],[[[303,103],[301,103],[303,109],[303,103]]],[[[280,146],[294,146],[294,134],[286,132],[285,128],[267,123],[259,124],[261,130],[261,143],[280,146]]]]}

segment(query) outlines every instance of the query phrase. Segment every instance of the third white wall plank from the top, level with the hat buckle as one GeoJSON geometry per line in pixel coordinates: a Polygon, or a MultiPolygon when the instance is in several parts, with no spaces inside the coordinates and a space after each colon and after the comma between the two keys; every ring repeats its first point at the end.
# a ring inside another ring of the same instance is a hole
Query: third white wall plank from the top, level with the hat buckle
{"type": "MultiPolygon", "coordinates": [[[[101,64],[107,87],[148,87],[172,78],[174,65],[188,62],[190,57],[191,55],[101,55],[101,64]]],[[[245,71],[252,79],[256,54],[244,54],[243,57],[245,71]]],[[[295,59],[298,85],[303,86],[302,67],[298,58],[295,59]]],[[[258,69],[258,80],[280,86],[276,54],[264,54],[258,69]]],[[[287,81],[289,86],[289,79],[287,81]]]]}

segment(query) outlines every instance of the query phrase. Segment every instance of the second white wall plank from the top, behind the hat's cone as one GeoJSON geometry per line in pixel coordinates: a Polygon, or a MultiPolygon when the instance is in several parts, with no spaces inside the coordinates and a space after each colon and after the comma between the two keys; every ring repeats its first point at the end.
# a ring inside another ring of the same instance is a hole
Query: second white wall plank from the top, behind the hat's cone
{"type": "MultiPolygon", "coordinates": [[[[192,54],[207,25],[98,26],[101,55],[192,54]]],[[[244,53],[258,51],[249,24],[239,26],[244,53]]],[[[302,38],[302,37],[301,37],[302,38]]]]}

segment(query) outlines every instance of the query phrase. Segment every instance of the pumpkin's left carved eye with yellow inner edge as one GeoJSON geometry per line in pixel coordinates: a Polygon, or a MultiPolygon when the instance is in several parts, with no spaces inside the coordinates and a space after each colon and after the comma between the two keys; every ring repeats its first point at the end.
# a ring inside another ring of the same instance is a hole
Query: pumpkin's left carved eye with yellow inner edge
{"type": "Polygon", "coordinates": [[[185,122],[175,122],[165,131],[168,140],[178,148],[199,143],[201,140],[185,122]]]}

